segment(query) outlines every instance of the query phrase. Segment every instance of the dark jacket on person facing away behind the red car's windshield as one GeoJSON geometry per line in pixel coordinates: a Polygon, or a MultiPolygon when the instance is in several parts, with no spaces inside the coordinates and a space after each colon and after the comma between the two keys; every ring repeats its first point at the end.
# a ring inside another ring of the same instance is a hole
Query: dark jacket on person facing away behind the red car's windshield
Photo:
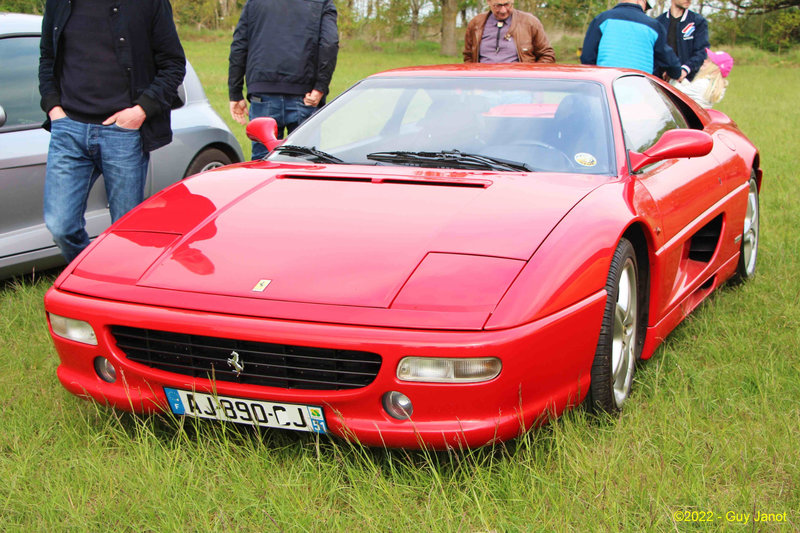
{"type": "Polygon", "coordinates": [[[339,53],[333,0],[247,0],[228,58],[231,102],[247,93],[328,94],[339,53]]]}

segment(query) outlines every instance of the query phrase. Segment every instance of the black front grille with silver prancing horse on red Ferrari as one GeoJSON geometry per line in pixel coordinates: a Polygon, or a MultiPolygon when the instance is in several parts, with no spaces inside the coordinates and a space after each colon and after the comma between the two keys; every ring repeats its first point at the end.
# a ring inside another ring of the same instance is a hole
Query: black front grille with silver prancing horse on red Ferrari
{"type": "Polygon", "coordinates": [[[186,376],[284,389],[345,390],[372,383],[381,357],[370,352],[290,346],[111,326],[128,359],[186,376]],[[242,365],[237,374],[234,352],[242,365]]]}

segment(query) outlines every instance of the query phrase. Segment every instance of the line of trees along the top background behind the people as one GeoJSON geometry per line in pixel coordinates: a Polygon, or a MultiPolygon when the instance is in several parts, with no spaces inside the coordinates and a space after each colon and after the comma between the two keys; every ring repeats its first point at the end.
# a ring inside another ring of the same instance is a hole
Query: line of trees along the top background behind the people
{"type": "MultiPolygon", "coordinates": [[[[232,29],[245,0],[172,0],[178,24],[232,29]]],[[[457,55],[467,21],[486,9],[485,0],[335,0],[342,39],[435,40],[457,55]]],[[[548,32],[581,33],[616,0],[515,0],[517,9],[542,20],[548,32]]],[[[652,2],[660,13],[669,0],[652,2]]],[[[44,0],[0,0],[0,11],[39,13],[44,0]]],[[[781,52],[800,43],[800,0],[694,0],[692,9],[709,20],[711,42],[749,44],[781,52]]]]}

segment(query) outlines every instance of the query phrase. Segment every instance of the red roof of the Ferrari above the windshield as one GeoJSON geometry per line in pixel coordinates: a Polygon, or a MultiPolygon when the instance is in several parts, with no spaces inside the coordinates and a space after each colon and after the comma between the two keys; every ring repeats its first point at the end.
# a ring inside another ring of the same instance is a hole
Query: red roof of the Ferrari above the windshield
{"type": "Polygon", "coordinates": [[[373,74],[374,77],[496,77],[496,78],[544,78],[593,80],[611,83],[624,74],[643,73],[624,68],[597,67],[594,65],[561,65],[540,63],[456,63],[449,65],[426,65],[387,70],[373,74]]]}

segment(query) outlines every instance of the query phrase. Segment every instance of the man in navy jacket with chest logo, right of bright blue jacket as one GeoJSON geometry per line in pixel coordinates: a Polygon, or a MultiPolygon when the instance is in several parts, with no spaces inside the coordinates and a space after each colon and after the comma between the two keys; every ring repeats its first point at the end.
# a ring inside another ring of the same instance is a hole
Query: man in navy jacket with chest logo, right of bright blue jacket
{"type": "MultiPolygon", "coordinates": [[[[667,32],[667,44],[681,60],[681,68],[689,81],[706,60],[708,23],[702,15],[689,9],[692,0],[672,0],[670,8],[656,20],[667,32]]],[[[663,67],[656,66],[656,73],[663,75],[663,67]]]]}

